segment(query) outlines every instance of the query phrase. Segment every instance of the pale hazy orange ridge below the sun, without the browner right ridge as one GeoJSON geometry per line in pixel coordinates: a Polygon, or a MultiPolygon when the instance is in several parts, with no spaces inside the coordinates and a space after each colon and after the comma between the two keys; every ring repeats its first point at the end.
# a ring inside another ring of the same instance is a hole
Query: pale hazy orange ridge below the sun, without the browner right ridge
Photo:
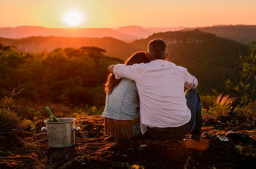
{"type": "Polygon", "coordinates": [[[117,28],[45,28],[42,26],[23,25],[15,28],[0,28],[0,37],[20,39],[30,36],[64,36],[64,37],[86,37],[102,38],[113,37],[125,42],[132,42],[136,39],[146,38],[147,36],[161,30],[178,30],[181,28],[145,28],[140,26],[123,26],[117,28]],[[152,31],[154,30],[154,31],[152,31]]]}

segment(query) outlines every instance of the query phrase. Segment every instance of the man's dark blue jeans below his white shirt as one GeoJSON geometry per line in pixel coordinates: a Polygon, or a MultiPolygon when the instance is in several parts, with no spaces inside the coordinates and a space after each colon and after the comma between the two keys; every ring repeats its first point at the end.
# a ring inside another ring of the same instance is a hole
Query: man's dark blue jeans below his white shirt
{"type": "Polygon", "coordinates": [[[192,139],[199,140],[203,133],[202,127],[202,106],[199,93],[195,89],[188,89],[185,92],[187,106],[191,111],[191,119],[185,125],[179,127],[147,127],[149,135],[157,139],[182,139],[190,133],[192,139]]]}

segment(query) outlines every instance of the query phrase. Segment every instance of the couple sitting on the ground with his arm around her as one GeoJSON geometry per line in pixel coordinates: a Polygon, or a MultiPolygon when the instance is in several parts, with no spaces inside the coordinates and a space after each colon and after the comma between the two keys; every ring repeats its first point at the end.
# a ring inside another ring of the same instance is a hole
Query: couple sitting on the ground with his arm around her
{"type": "Polygon", "coordinates": [[[108,67],[105,84],[105,133],[133,138],[146,132],[157,139],[183,139],[187,148],[204,151],[201,139],[201,103],[197,79],[187,68],[167,61],[162,39],[148,43],[148,52],[136,52],[124,64],[108,67]],[[189,88],[184,93],[184,87],[189,88]]]}

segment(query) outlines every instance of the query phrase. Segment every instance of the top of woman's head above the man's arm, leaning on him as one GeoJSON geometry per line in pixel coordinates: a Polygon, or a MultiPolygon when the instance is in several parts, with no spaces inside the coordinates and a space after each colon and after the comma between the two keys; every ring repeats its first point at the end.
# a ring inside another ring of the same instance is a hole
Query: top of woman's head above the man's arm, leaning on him
{"type": "Polygon", "coordinates": [[[146,56],[146,52],[135,52],[126,61],[125,65],[133,65],[135,63],[148,63],[149,59],[146,56]]]}

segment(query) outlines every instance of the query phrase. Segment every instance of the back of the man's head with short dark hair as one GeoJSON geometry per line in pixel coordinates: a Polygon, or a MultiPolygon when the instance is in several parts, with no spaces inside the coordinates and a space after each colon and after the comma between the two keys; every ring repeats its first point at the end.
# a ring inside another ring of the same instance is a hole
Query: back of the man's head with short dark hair
{"type": "Polygon", "coordinates": [[[148,42],[148,58],[151,60],[164,59],[167,53],[167,44],[162,39],[153,39],[148,42]]]}

